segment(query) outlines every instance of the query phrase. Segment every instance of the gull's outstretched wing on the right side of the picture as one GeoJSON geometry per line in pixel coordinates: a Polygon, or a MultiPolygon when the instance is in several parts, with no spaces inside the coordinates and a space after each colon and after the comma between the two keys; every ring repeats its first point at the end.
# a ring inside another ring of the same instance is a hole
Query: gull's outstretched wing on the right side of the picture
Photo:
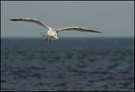
{"type": "Polygon", "coordinates": [[[57,31],[64,31],[64,30],[76,30],[76,31],[81,31],[81,32],[95,32],[95,33],[101,33],[100,31],[95,31],[95,30],[91,30],[91,29],[86,29],[86,28],[83,28],[83,27],[65,27],[65,28],[58,29],[57,31]]]}

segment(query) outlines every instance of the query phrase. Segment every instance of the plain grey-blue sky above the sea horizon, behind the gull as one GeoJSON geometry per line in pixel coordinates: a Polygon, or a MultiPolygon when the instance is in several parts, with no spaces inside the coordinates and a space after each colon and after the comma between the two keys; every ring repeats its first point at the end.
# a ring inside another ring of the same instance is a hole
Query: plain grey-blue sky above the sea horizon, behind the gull
{"type": "Polygon", "coordinates": [[[11,18],[37,18],[53,28],[79,26],[102,32],[63,31],[60,37],[134,37],[134,1],[1,1],[1,37],[40,37],[46,28],[11,18]]]}

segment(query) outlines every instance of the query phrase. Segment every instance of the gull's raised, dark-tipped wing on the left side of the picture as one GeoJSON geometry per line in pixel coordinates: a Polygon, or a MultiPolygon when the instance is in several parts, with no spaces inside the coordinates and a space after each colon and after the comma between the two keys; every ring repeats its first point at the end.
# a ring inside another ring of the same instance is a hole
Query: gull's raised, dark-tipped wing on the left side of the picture
{"type": "Polygon", "coordinates": [[[11,21],[24,21],[24,22],[34,22],[34,23],[37,23],[43,27],[46,27],[46,28],[50,28],[49,26],[47,26],[47,24],[45,23],[42,23],[41,21],[39,21],[38,19],[34,19],[34,18],[19,18],[19,19],[10,19],[11,21]]]}

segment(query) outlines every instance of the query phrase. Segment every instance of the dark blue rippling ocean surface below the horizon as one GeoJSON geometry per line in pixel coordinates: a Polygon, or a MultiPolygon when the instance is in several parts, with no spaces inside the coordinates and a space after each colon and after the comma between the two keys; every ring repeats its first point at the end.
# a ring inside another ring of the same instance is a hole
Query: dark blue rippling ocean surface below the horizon
{"type": "Polygon", "coordinates": [[[134,38],[2,38],[1,91],[134,91],[134,38]]]}

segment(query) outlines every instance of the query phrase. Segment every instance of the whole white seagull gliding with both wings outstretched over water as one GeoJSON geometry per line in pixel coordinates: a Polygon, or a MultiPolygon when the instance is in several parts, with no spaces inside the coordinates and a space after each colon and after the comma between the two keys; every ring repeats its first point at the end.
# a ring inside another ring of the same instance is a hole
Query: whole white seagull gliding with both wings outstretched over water
{"type": "Polygon", "coordinates": [[[95,31],[95,30],[91,30],[91,29],[87,29],[87,28],[83,28],[83,27],[78,27],[78,26],[64,27],[64,28],[56,29],[56,28],[49,27],[47,24],[45,24],[45,23],[43,23],[35,18],[18,18],[18,19],[10,19],[10,20],[11,21],[33,22],[33,23],[39,24],[40,26],[47,28],[48,31],[47,32],[40,32],[40,35],[43,38],[45,38],[45,40],[48,41],[48,43],[50,43],[52,39],[58,40],[59,39],[58,32],[65,31],[65,30],[66,31],[74,30],[74,31],[81,31],[81,32],[101,33],[100,31],[95,31]]]}

